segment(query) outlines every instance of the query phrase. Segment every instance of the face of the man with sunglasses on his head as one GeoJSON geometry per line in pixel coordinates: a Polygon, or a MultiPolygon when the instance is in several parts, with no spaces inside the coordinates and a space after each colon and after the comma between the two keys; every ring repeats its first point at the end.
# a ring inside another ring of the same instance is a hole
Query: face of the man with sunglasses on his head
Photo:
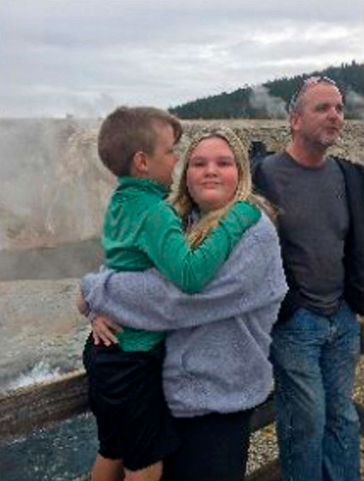
{"type": "Polygon", "coordinates": [[[337,87],[325,82],[310,86],[290,124],[294,138],[325,148],[334,144],[344,125],[343,99],[337,87]]]}

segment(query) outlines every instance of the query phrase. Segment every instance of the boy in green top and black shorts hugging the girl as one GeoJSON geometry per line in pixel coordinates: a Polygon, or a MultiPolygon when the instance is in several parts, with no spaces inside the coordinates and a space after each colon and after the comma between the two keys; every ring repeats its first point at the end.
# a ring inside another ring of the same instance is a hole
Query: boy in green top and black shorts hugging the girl
{"type": "MultiPolygon", "coordinates": [[[[106,210],[105,265],[116,271],[156,267],[179,289],[201,290],[260,211],[237,202],[206,240],[191,249],[184,226],[165,200],[182,135],[179,121],[150,107],[120,107],[103,122],[100,159],[119,184],[106,210]]],[[[90,406],[100,443],[92,481],[158,481],[161,460],[179,444],[162,392],[164,333],[124,328],[118,345],[84,351],[90,406]],[[123,460],[123,461],[122,461],[123,460]]]]}

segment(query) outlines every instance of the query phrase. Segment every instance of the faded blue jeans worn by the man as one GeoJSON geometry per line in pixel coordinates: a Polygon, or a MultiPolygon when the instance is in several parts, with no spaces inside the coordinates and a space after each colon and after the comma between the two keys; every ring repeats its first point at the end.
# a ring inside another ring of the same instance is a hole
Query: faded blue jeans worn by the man
{"type": "Polygon", "coordinates": [[[346,303],[329,317],[300,308],[272,337],[282,480],[359,481],[356,316],[346,303]]]}

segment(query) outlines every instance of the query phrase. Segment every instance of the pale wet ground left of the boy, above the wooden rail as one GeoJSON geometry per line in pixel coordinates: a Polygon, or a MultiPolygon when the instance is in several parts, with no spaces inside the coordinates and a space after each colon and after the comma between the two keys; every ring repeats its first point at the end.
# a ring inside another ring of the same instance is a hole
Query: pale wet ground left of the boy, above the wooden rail
{"type": "Polygon", "coordinates": [[[81,367],[78,279],[0,282],[0,391],[81,367]]]}

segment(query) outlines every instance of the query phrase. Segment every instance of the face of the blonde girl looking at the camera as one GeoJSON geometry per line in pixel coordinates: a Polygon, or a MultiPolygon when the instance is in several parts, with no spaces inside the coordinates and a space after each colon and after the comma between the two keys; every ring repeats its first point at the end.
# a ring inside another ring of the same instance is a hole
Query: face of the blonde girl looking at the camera
{"type": "Polygon", "coordinates": [[[237,190],[238,171],[233,151],[220,137],[203,139],[190,155],[187,188],[201,211],[224,207],[237,190]]]}

